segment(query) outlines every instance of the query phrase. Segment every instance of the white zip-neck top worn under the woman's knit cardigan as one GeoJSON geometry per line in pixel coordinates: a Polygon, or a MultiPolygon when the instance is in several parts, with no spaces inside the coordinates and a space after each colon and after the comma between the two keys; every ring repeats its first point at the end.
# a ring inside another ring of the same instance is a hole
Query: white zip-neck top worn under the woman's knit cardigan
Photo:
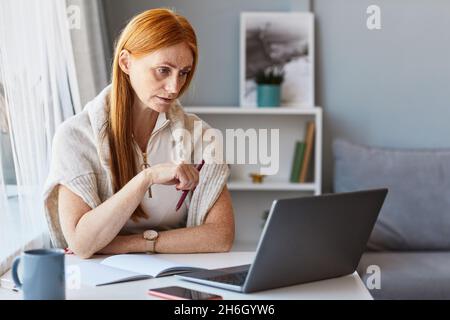
{"type": "MultiPolygon", "coordinates": [[[[159,163],[175,162],[171,152],[172,148],[167,147],[171,143],[169,122],[170,120],[167,119],[166,114],[161,112],[147,144],[147,163],[150,166],[159,163]]],[[[140,171],[144,164],[144,157],[142,150],[136,142],[134,146],[137,156],[136,167],[140,171]]],[[[188,212],[187,201],[183,203],[178,211],[175,210],[182,191],[178,191],[173,185],[153,185],[151,189],[152,197],[149,198],[148,193],[146,193],[141,201],[142,209],[148,218],[140,218],[137,222],[131,219],[128,220],[122,228],[122,234],[142,233],[148,229],[170,230],[186,225],[188,212]],[[168,201],[168,199],[171,200],[168,201]]]]}

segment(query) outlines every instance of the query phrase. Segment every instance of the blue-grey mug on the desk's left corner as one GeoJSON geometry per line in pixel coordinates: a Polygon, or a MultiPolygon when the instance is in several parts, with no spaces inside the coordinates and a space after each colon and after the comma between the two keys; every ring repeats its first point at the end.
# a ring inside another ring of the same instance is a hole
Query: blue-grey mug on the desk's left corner
{"type": "Polygon", "coordinates": [[[66,281],[64,250],[37,249],[23,252],[12,265],[12,277],[24,300],[64,300],[66,281]],[[17,269],[23,264],[22,282],[17,269]]]}

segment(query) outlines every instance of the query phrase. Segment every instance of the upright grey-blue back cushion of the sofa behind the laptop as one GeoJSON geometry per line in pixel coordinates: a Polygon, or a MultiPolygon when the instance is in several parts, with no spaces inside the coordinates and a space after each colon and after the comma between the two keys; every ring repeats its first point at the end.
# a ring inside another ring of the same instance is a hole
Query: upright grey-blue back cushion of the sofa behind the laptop
{"type": "Polygon", "coordinates": [[[450,249],[450,150],[394,150],[336,140],[334,191],[387,187],[374,250],[450,249]]]}

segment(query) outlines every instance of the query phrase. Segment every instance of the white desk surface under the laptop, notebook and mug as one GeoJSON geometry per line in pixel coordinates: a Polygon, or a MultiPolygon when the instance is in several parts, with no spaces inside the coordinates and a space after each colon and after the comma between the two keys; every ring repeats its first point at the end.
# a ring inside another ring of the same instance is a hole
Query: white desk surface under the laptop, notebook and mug
{"type": "MultiPolygon", "coordinates": [[[[213,254],[164,254],[165,259],[172,261],[188,263],[192,266],[203,268],[221,268],[231,267],[252,262],[254,252],[228,252],[213,254]]],[[[102,260],[106,256],[97,256],[92,260],[102,260]]],[[[66,266],[76,265],[80,258],[67,255],[66,266]]],[[[209,286],[199,285],[177,279],[175,277],[164,277],[147,279],[120,284],[112,284],[101,287],[89,287],[81,285],[79,289],[67,289],[67,299],[158,299],[147,294],[148,289],[169,285],[178,285],[191,289],[217,293],[224,299],[372,299],[369,291],[365,288],[363,282],[355,272],[352,275],[334,278],[329,280],[317,281],[291,287],[284,287],[274,290],[261,291],[251,294],[242,294],[232,291],[217,289],[209,286]]],[[[0,288],[1,299],[21,299],[22,295],[12,290],[0,288]]]]}

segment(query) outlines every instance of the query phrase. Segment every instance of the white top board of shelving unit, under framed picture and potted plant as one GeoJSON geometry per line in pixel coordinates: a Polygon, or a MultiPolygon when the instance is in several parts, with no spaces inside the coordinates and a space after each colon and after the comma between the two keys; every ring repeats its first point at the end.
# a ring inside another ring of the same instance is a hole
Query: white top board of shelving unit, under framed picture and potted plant
{"type": "Polygon", "coordinates": [[[198,114],[251,114],[251,115],[316,115],[322,111],[320,107],[276,107],[276,108],[244,108],[244,107],[184,107],[189,113],[198,114]]]}

